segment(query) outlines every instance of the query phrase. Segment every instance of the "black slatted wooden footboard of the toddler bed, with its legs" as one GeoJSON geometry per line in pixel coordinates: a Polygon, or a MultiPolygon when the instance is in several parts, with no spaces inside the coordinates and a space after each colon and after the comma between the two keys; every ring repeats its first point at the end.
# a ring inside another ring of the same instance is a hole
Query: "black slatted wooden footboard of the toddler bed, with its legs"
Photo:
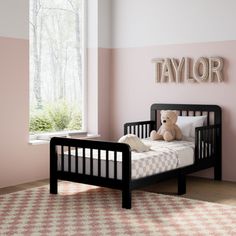
{"type": "Polygon", "coordinates": [[[130,146],[115,142],[54,137],[50,142],[50,193],[57,194],[58,180],[120,189],[122,190],[122,207],[129,209],[131,208],[130,146]],[[105,159],[102,159],[101,152],[105,153],[105,159]],[[118,179],[117,176],[118,154],[122,157],[121,179],[118,179]],[[105,176],[102,176],[101,173],[102,161],[105,163],[105,176]],[[113,163],[113,177],[109,176],[109,168],[111,168],[109,162],[113,163]],[[60,167],[58,163],[60,163],[60,167]],[[65,166],[67,167],[65,168],[65,166]]]}

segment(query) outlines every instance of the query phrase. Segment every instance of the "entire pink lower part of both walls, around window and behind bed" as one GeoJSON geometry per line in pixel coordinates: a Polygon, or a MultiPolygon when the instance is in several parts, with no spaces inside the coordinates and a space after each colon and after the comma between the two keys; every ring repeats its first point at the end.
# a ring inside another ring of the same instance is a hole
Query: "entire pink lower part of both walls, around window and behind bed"
{"type": "MultiPolygon", "coordinates": [[[[236,41],[88,51],[89,120],[117,140],[127,121],[149,119],[154,102],[218,104],[223,109],[223,179],[236,181],[236,41]],[[156,84],[152,58],[221,56],[225,82],[156,84]],[[93,71],[92,71],[93,70],[93,71]],[[92,72],[92,73],[91,73],[92,72]],[[94,89],[94,90],[93,90],[94,89]],[[94,115],[94,117],[91,117],[94,115]]],[[[48,178],[48,145],[28,144],[28,40],[0,37],[0,187],[48,178]]],[[[212,177],[212,171],[201,176],[212,177]]]]}

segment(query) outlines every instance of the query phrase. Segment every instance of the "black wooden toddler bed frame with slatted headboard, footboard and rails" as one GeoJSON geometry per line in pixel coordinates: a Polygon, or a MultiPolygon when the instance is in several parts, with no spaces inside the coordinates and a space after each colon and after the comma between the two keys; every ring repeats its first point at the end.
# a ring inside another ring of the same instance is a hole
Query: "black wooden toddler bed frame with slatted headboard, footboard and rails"
{"type": "Polygon", "coordinates": [[[130,209],[132,190],[157,181],[177,177],[178,194],[181,195],[186,193],[187,174],[214,167],[214,179],[221,180],[221,108],[216,105],[153,104],[151,119],[126,123],[124,134],[148,138],[150,131],[160,126],[160,110],[176,110],[179,116],[206,115],[206,124],[195,128],[193,164],[132,179],[132,152],[129,145],[54,137],[50,142],[50,193],[57,194],[58,180],[114,188],[122,191],[122,207],[130,209]],[[122,160],[118,161],[119,158],[122,160]],[[118,177],[119,165],[121,177],[118,177]]]}

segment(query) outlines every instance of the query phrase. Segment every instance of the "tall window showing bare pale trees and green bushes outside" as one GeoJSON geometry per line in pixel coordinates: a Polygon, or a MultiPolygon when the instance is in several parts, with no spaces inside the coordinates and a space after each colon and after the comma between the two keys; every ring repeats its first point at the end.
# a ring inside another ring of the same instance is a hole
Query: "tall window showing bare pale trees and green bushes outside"
{"type": "Polygon", "coordinates": [[[30,0],[30,135],[85,130],[85,1],[30,0]]]}

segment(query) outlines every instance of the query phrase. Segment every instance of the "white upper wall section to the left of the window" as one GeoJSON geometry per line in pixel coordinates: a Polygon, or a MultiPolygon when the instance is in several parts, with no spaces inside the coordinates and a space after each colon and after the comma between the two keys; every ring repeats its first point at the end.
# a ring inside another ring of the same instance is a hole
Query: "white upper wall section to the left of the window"
{"type": "Polygon", "coordinates": [[[29,0],[0,0],[0,36],[29,38],[29,0]]]}

